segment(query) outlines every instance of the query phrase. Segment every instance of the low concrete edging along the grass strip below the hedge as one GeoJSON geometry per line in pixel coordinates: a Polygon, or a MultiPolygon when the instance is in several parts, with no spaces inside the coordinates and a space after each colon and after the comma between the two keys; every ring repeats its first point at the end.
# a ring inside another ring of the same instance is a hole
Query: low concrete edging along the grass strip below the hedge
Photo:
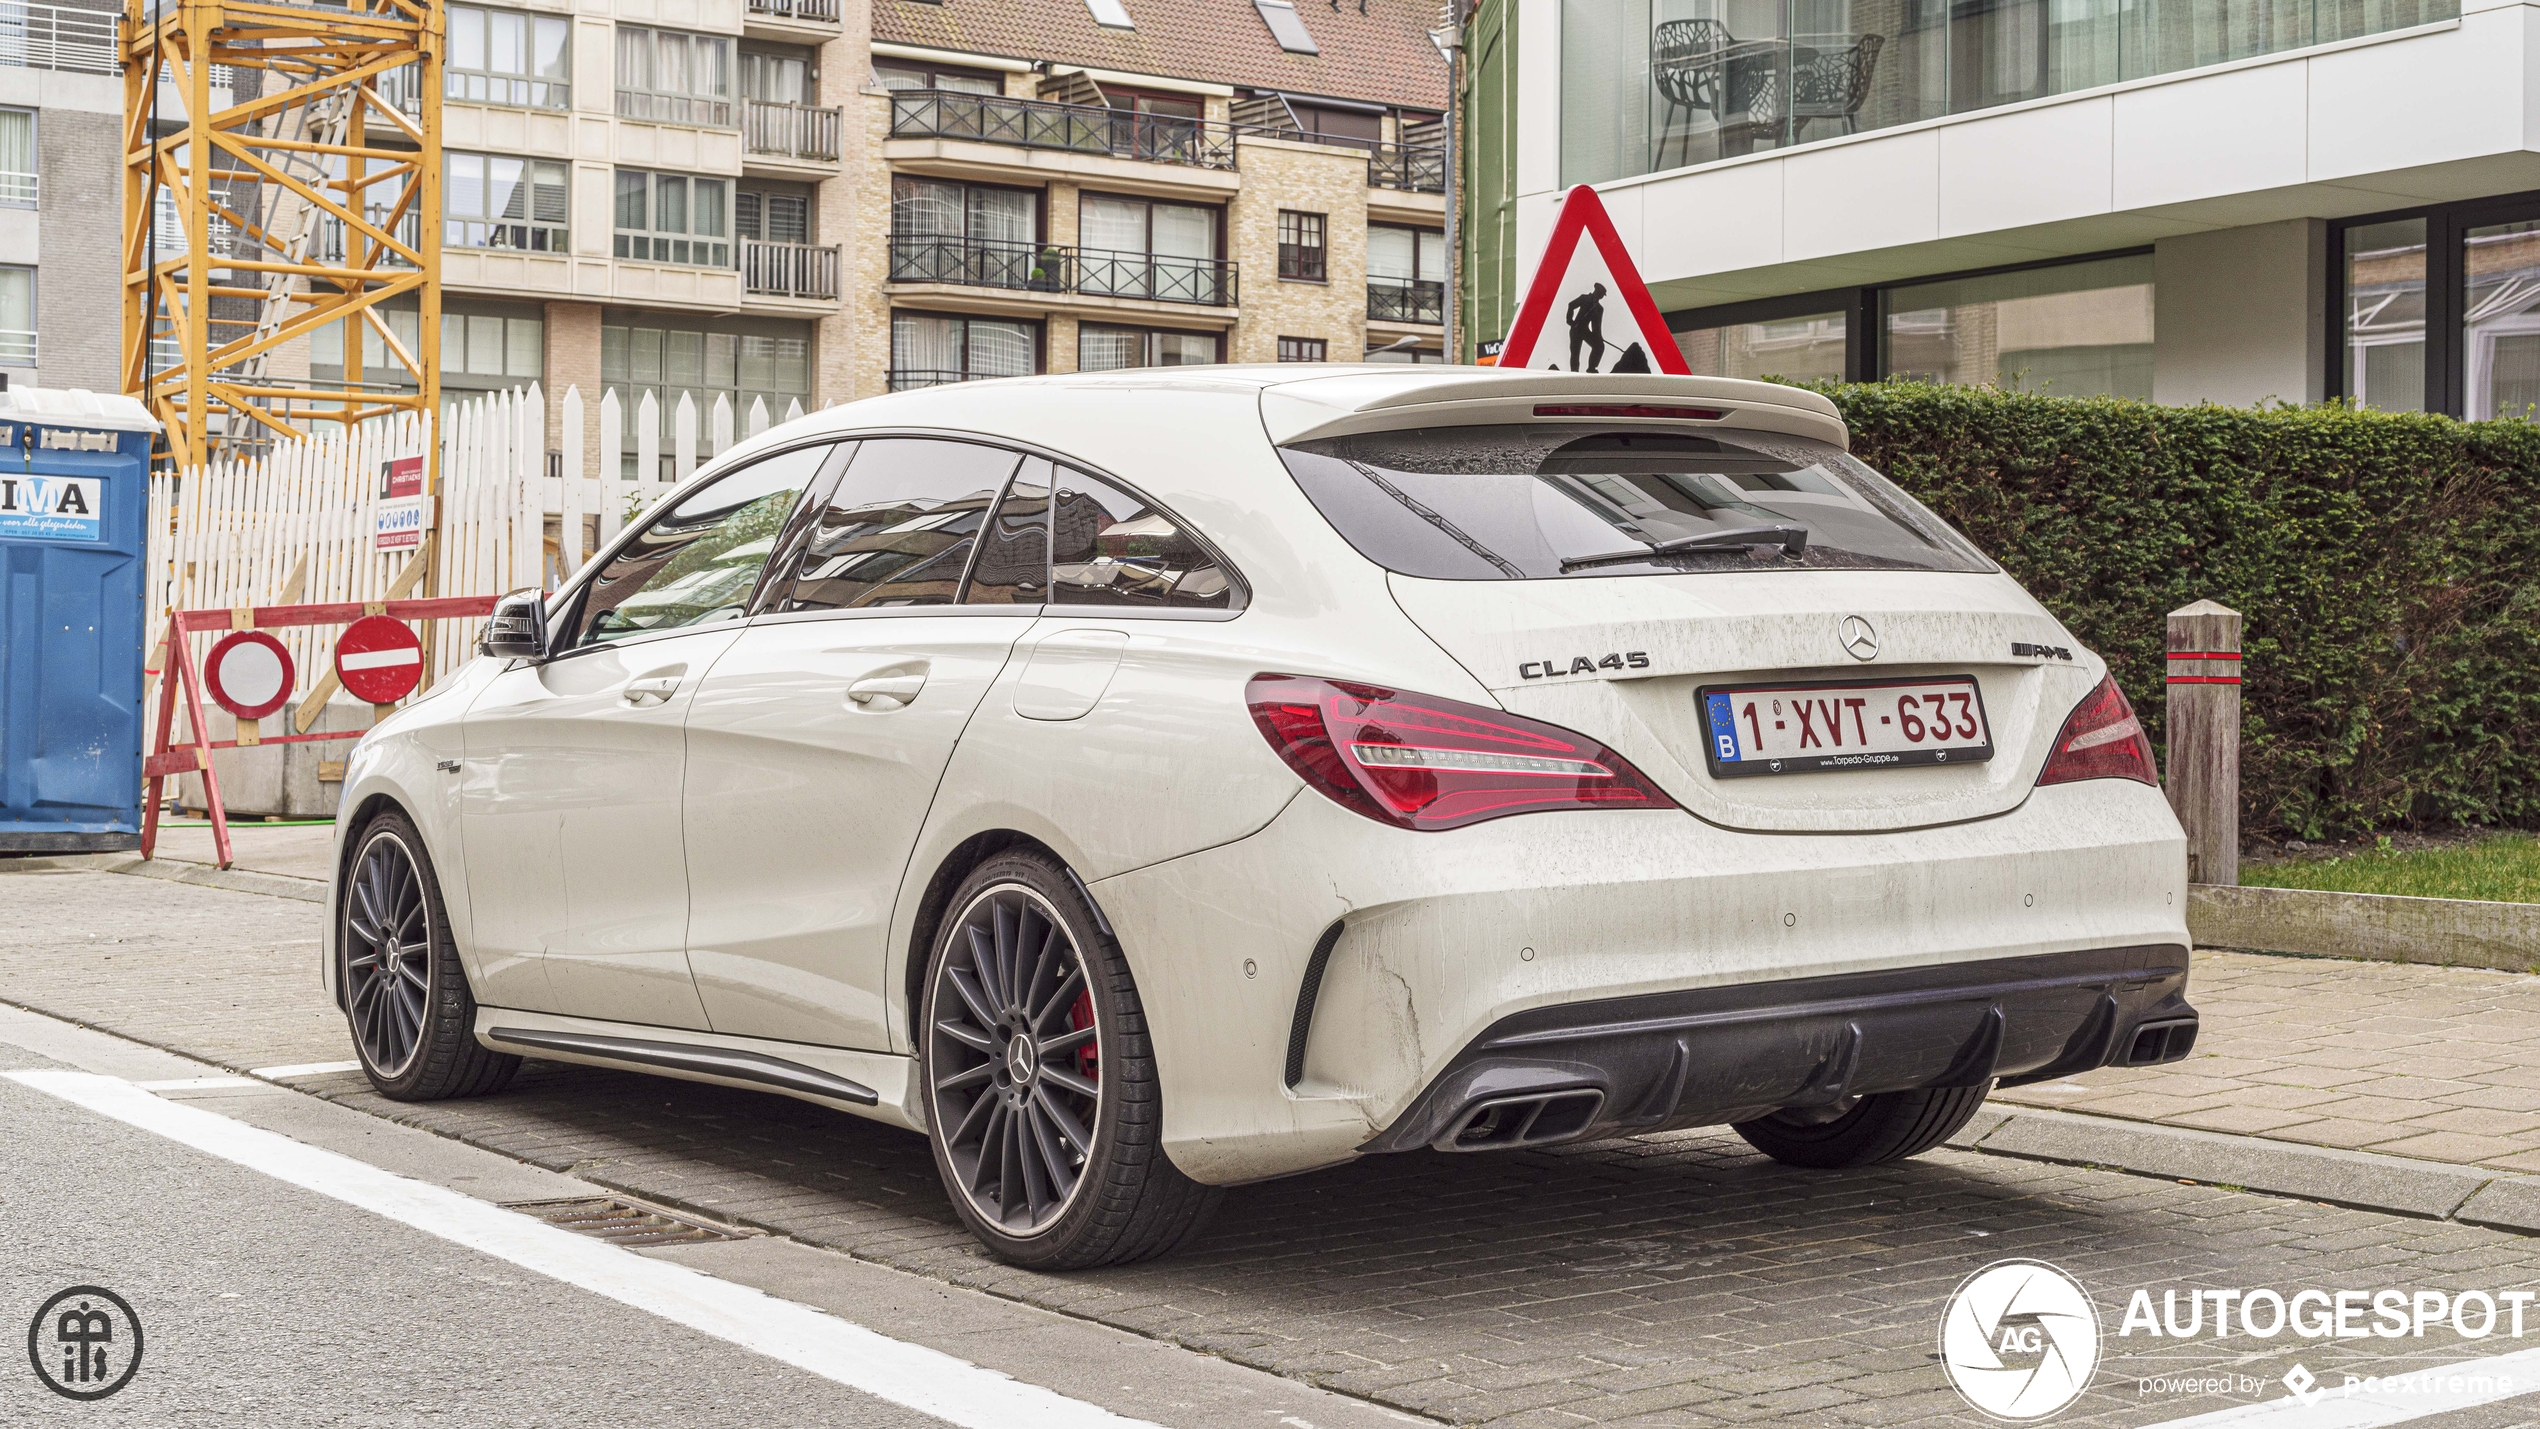
{"type": "Polygon", "coordinates": [[[2540,904],[2187,886],[2197,947],[2540,972],[2540,904]]]}

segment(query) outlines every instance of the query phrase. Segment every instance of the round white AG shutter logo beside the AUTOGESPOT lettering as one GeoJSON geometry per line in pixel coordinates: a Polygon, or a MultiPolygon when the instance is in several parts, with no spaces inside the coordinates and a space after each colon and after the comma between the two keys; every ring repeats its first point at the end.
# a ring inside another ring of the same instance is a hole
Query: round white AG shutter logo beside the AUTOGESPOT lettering
{"type": "Polygon", "coordinates": [[[2045,1419],[2090,1386],[2098,1307],[2080,1282],[2045,1261],[1994,1261],[1948,1297],[1941,1368],[1981,1414],[2045,1419]]]}

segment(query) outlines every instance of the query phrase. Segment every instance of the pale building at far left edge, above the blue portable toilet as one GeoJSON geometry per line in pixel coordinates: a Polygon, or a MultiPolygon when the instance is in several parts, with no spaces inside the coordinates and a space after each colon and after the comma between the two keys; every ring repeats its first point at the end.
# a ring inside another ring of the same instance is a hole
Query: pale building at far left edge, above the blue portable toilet
{"type": "Polygon", "coordinates": [[[122,391],[119,13],[109,0],[0,10],[0,373],[13,386],[122,391]]]}

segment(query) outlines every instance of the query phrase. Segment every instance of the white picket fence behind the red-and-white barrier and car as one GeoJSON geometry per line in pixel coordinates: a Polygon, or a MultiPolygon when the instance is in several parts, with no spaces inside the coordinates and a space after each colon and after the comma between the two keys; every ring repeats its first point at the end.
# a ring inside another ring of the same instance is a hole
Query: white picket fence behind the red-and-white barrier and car
{"type": "MultiPolygon", "coordinates": [[[[615,388],[599,396],[599,477],[582,477],[582,391],[559,404],[561,431],[549,447],[546,393],[536,383],[450,406],[442,424],[439,533],[432,591],[493,596],[526,586],[556,589],[607,546],[617,530],[686,480],[701,459],[734,442],[724,396],[698,414],[681,393],[668,414],[671,464],[663,467],[663,411],[645,391],[635,406],[635,462],[625,462],[627,426],[615,388]],[[704,421],[698,421],[704,416],[704,421]],[[701,431],[704,426],[704,431],[701,431]],[[704,449],[701,449],[704,447],[704,449]],[[549,475],[549,452],[559,454],[549,475]],[[653,480],[643,480],[653,475],[653,480]]],[[[795,401],[785,421],[803,416],[795,401]]],[[[772,424],[752,398],[744,429],[772,424]]],[[[384,602],[424,594],[409,551],[376,551],[384,467],[419,457],[427,421],[409,414],[356,431],[320,431],[279,442],[267,457],[211,462],[183,475],[150,477],[150,612],[157,645],[165,609],[221,609],[302,602],[384,602]]],[[[472,652],[480,619],[442,619],[432,640],[434,678],[472,652]]],[[[330,668],[338,627],[287,627],[274,637],[300,670],[292,698],[330,668]]],[[[218,640],[196,635],[196,660],[218,640]]]]}

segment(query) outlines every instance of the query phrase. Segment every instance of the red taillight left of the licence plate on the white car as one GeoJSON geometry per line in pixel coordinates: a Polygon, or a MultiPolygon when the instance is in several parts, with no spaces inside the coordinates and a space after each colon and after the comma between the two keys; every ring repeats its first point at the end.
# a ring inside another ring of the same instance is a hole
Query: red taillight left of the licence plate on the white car
{"type": "Polygon", "coordinates": [[[1308,675],[1255,675],[1245,701],[1308,784],[1397,827],[1676,807],[1603,744],[1506,711],[1308,675]]]}

